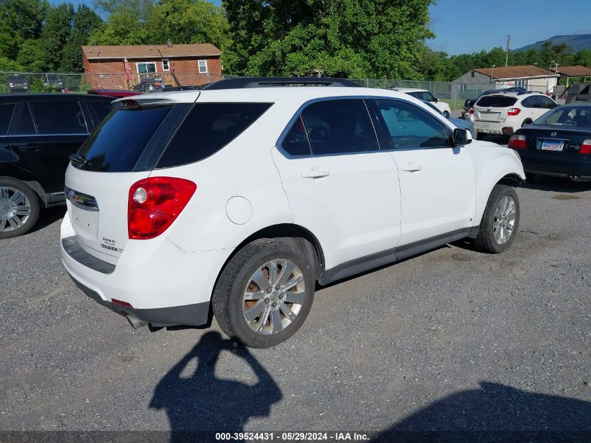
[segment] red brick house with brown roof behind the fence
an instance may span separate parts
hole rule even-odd
[[[222,52],[210,43],[191,45],[83,46],[87,83],[93,88],[131,89],[142,81],[203,85],[222,78]],[[127,62],[126,62],[127,60]],[[126,72],[127,70],[127,72]]]

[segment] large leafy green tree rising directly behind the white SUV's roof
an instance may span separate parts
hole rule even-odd
[[[232,30],[228,71],[420,78],[431,0],[222,0]]]

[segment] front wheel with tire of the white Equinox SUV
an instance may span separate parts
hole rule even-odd
[[[506,251],[515,241],[519,218],[520,205],[515,189],[507,185],[494,185],[480,221],[476,248],[492,254]]]

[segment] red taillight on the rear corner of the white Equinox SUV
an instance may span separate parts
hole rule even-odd
[[[153,239],[183,211],[197,185],[183,178],[150,177],[129,189],[127,232],[130,239]]]

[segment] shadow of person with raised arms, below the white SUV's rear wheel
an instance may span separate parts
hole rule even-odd
[[[215,365],[222,351],[245,360],[257,375],[250,386],[241,381],[215,377]],[[183,377],[197,359],[197,369]],[[248,349],[219,332],[206,332],[157,384],[150,408],[165,409],[171,426],[171,443],[197,442],[204,431],[240,433],[251,417],[269,416],[271,405],[283,394],[269,372]]]

